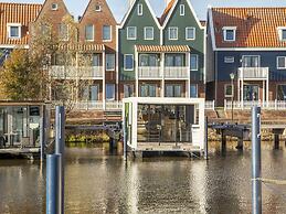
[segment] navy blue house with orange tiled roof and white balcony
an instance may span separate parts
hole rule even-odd
[[[206,99],[286,100],[286,9],[210,8]]]

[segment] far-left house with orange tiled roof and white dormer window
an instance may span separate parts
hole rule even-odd
[[[15,47],[29,49],[29,23],[41,8],[41,4],[0,2],[0,66]]]

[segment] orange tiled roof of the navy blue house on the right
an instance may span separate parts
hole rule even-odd
[[[216,47],[286,47],[278,26],[286,26],[286,8],[212,8]],[[235,42],[223,41],[223,26],[236,26]]]

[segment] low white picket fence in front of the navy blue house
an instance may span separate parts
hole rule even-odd
[[[233,106],[233,107],[232,107]],[[266,110],[286,110],[286,101],[284,100],[269,100],[269,101],[230,101],[224,100],[224,110],[231,110],[233,109],[251,109],[254,106],[259,106],[262,109]]]

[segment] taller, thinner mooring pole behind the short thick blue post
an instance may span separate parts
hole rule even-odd
[[[60,160],[60,204],[61,213],[64,214],[64,147],[65,147],[65,110],[63,106],[55,107],[55,153],[61,154]]]

